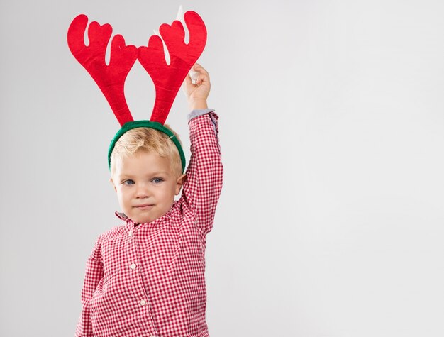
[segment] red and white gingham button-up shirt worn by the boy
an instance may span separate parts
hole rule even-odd
[[[99,236],[87,261],[75,336],[204,337],[205,239],[222,187],[218,116],[189,121],[192,156],[182,197],[151,223]]]

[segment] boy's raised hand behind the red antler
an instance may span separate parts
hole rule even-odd
[[[211,88],[209,73],[197,63],[192,67],[192,70],[198,73],[196,84],[192,83],[189,74],[184,81],[184,92],[187,95],[189,109],[206,109],[208,108],[206,99]]]

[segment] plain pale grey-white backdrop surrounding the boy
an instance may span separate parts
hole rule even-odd
[[[145,45],[179,4],[206,23],[221,117],[211,336],[444,336],[444,4],[394,0],[1,1],[0,335],[73,336],[87,257],[119,224],[119,126],[70,22]],[[149,118],[138,63],[126,96]],[[187,113],[179,92],[185,148]]]

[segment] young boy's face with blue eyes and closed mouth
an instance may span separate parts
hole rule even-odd
[[[116,160],[111,182],[126,216],[148,223],[170,211],[184,179],[174,175],[168,158],[139,151]]]

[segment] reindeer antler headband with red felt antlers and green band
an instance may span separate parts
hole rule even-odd
[[[121,129],[109,146],[109,165],[114,145],[123,133],[132,128],[145,127],[155,128],[170,136],[179,150],[182,170],[185,169],[182,146],[174,133],[163,124],[170,113],[180,86],[204,50],[206,27],[199,14],[194,11],[184,13],[184,21],[189,31],[189,43],[184,41],[185,32],[180,21],[173,21],[171,26],[166,23],[162,24],[159,29],[162,39],[158,35],[152,35],[148,41],[148,47],[136,48],[134,45],[125,45],[123,36],[115,35],[111,41],[109,65],[105,62],[105,52],[113,31],[111,25],[106,23],[101,26],[96,21],[91,22],[88,28],[89,45],[84,43],[87,16],[80,14],[74,18],[68,28],[67,40],[72,55],[96,81],[121,125]],[[167,64],[165,60],[163,43],[170,54],[170,64]],[[126,76],[136,59],[150,74],[155,85],[156,98],[150,120],[134,121],[123,93]]]

